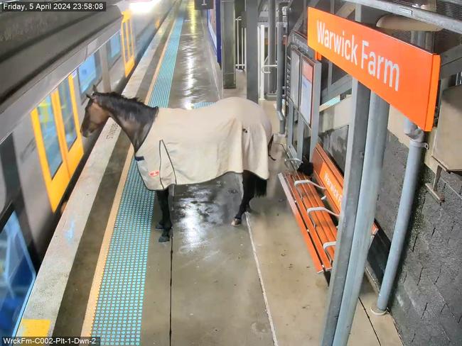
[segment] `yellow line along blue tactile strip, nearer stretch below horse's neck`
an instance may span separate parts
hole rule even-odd
[[[124,191],[125,182],[129,174],[129,168],[131,164],[131,158],[133,157],[133,147],[129,147],[127,158],[125,159],[124,168],[122,169],[122,175],[117,186],[117,191],[114,196],[114,203],[112,203],[111,212],[109,213],[109,219],[107,221],[106,230],[104,230],[104,238],[100,249],[100,255],[95,269],[95,275],[93,277],[92,288],[90,289],[90,296],[87,302],[87,311],[85,312],[85,318],[82,325],[82,336],[92,336],[93,320],[95,318],[96,306],[98,297],[100,296],[100,287],[102,282],[102,276],[104,274],[104,267],[106,265],[107,254],[109,252],[109,245],[112,239],[112,233],[114,233],[114,223],[117,217],[117,211],[119,211],[120,200],[122,199],[122,192]]]

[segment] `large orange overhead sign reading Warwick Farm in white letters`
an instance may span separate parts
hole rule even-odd
[[[422,130],[433,127],[439,55],[312,7],[308,8],[308,46]]]

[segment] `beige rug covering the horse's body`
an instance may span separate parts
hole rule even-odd
[[[203,108],[159,108],[135,154],[146,187],[198,184],[227,172],[268,179],[269,118],[262,107],[231,97]]]

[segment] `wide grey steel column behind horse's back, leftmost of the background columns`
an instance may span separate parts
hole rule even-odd
[[[223,88],[236,87],[235,0],[220,1]]]

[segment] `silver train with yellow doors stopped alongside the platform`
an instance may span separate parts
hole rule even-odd
[[[97,135],[92,87],[120,92],[177,0],[101,12],[0,12],[0,335],[14,335],[53,230]],[[72,236],[72,235],[70,235]]]

